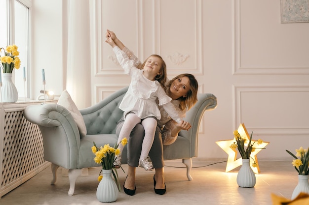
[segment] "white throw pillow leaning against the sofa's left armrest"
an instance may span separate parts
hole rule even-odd
[[[87,134],[86,125],[84,119],[82,118],[76,104],[73,102],[71,95],[67,90],[63,90],[62,94],[59,97],[57,102],[58,105],[62,105],[67,110],[71,112],[72,117],[77,123],[77,127],[79,130],[80,137],[83,137]]]

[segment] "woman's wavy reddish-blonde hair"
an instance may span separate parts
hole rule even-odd
[[[190,110],[193,107],[193,105],[197,102],[198,83],[197,83],[197,80],[195,79],[195,77],[192,74],[189,74],[189,73],[180,74],[180,75],[176,76],[175,78],[173,78],[172,80],[169,81],[168,87],[170,87],[176,79],[182,78],[182,77],[188,77],[189,78],[190,90],[187,92],[186,97],[181,96],[177,100],[180,101],[179,108],[181,110]]]

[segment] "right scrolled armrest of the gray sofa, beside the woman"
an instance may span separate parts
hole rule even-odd
[[[192,128],[188,131],[181,130],[179,136],[191,142],[191,155],[197,156],[197,137],[200,122],[206,111],[214,110],[217,107],[217,98],[211,93],[198,93],[196,104],[186,113],[185,121],[190,122]]]

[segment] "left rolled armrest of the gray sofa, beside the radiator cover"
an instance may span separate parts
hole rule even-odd
[[[28,106],[23,115],[39,126],[46,161],[66,169],[77,167],[80,135],[70,111],[51,103]]]

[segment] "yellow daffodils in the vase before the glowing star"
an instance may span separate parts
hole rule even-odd
[[[241,155],[241,158],[243,158],[243,159],[250,159],[251,152],[254,151],[254,149],[256,149],[256,147],[254,147],[254,144],[256,142],[258,143],[258,145],[261,145],[263,143],[263,140],[261,140],[261,139],[259,139],[258,141],[254,141],[252,143],[253,131],[250,135],[249,144],[247,143],[247,139],[242,138],[237,130],[235,130],[233,132],[233,134],[234,134],[236,142],[233,142],[233,144],[230,147],[232,149],[236,149],[236,147],[237,147],[237,149],[238,149],[238,151]],[[259,148],[259,147],[257,147],[257,148]],[[261,148],[261,149],[265,149],[265,148]],[[252,157],[251,157],[251,159],[254,161],[254,163],[252,164],[252,167],[257,167],[258,166],[257,162]]]

